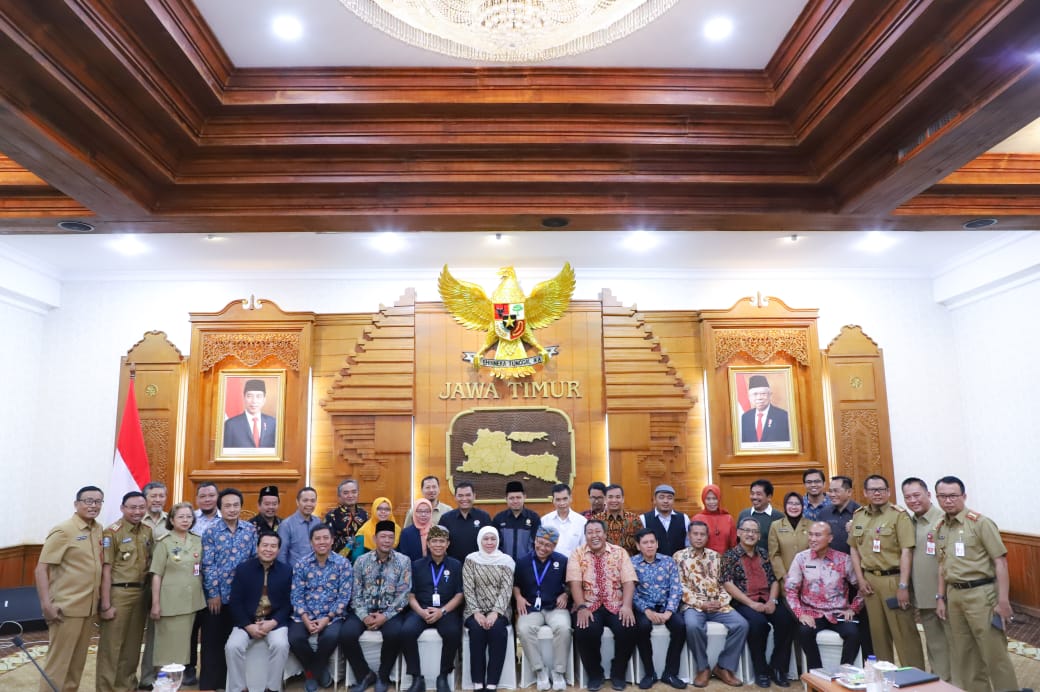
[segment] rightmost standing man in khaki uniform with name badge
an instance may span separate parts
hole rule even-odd
[[[1008,599],[1008,550],[993,520],[964,507],[964,483],[944,476],[935,496],[945,513],[936,526],[939,591],[936,614],[950,622],[954,685],[980,692],[1017,690],[1005,626],[1014,618]],[[999,617],[1000,629],[993,626]]]

